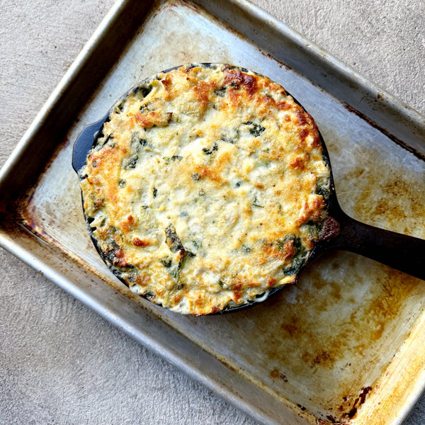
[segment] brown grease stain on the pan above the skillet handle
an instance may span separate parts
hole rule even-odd
[[[421,158],[402,149],[385,149],[373,140],[352,142],[350,157],[343,142],[333,142],[331,137],[326,144],[336,195],[348,215],[425,239],[425,162]]]

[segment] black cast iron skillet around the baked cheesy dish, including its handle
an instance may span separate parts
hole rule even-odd
[[[169,72],[176,68],[178,67],[167,69],[164,72]],[[121,99],[130,94],[132,90],[133,89],[130,89],[130,91],[122,96]],[[297,102],[295,98],[294,101]],[[297,103],[302,106],[299,102]],[[84,128],[79,137],[77,137],[72,153],[72,167],[77,174],[78,171],[86,164],[86,157],[89,154],[91,147],[94,145],[98,132],[103,128],[103,123],[108,120],[110,113],[111,111],[108,111],[101,120],[88,125]],[[330,170],[331,184],[329,189],[328,220],[324,226],[324,231],[322,232],[320,240],[315,244],[310,256],[297,272],[297,275],[307,268],[307,266],[317,259],[317,257],[324,254],[324,252],[331,249],[342,249],[344,251],[351,251],[368,257],[369,259],[379,261],[382,264],[396,268],[397,270],[403,271],[411,276],[425,280],[424,239],[366,225],[365,223],[354,220],[341,210],[336,198],[329,154],[320,132],[319,137],[322,142],[324,161],[327,162]],[[91,237],[91,239],[93,240],[98,253],[101,254],[103,258],[103,253],[98,246],[96,239],[93,237]],[[113,270],[113,272],[115,271]],[[117,273],[115,273],[115,275],[120,278]],[[125,283],[123,279],[120,278],[120,280]],[[125,283],[125,285],[127,285],[127,283]],[[278,291],[284,288],[284,286],[285,285],[271,289],[268,293],[268,297],[278,293]],[[263,297],[261,297],[261,300],[263,300]],[[257,303],[258,302],[253,300],[253,302],[243,305],[225,307],[225,309],[219,312],[219,314],[243,310],[244,308]]]

